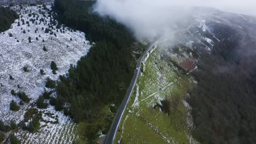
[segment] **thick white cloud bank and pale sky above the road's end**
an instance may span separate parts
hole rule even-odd
[[[256,15],[256,1],[232,0],[97,0],[94,11],[113,17],[129,27],[138,39],[153,39],[188,25],[194,7],[215,8],[237,14]]]

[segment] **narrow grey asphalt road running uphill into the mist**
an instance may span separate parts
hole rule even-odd
[[[129,86],[129,89],[127,89],[125,98],[124,98],[122,104],[119,106],[119,110],[117,112],[117,115],[115,115],[114,122],[112,123],[112,126],[111,126],[110,130],[108,131],[108,135],[106,136],[106,138],[105,138],[105,140],[103,142],[104,144],[112,144],[112,143],[114,143],[115,135],[117,135],[117,130],[118,130],[120,121],[121,121],[121,119],[122,119],[122,117],[124,115],[124,111],[126,109],[128,101],[129,101],[129,99],[131,97],[133,88],[136,85],[139,72],[141,71],[142,59],[149,52],[149,50],[156,44],[156,42],[157,42],[157,40],[154,41],[152,44],[150,44],[150,46],[148,46],[147,50],[142,53],[141,57],[139,57],[139,59],[137,61],[137,65],[136,65],[136,70],[135,70],[135,73],[133,74],[132,81],[131,81],[131,84]]]

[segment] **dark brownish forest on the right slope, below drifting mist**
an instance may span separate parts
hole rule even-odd
[[[201,143],[256,143],[256,44],[241,38],[219,41],[194,73],[198,83],[188,101]]]

